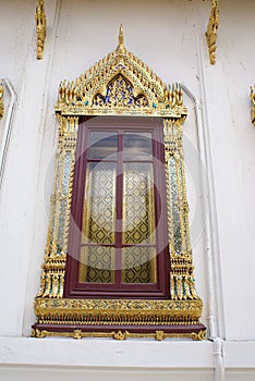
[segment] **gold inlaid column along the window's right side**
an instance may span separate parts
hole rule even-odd
[[[182,123],[182,119],[166,119],[163,125],[171,265],[170,284],[173,300],[198,299],[194,285],[190,244]]]

